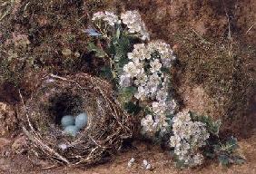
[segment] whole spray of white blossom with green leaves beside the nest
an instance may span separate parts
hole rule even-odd
[[[111,72],[106,73],[111,74],[108,78],[113,80],[115,87],[119,87],[117,94],[121,96],[120,101],[127,112],[136,114],[143,108],[141,131],[144,136],[153,140],[166,140],[168,136],[178,166],[201,165],[204,160],[202,151],[210,149],[215,153],[212,156],[218,157],[224,165],[241,162],[241,158],[234,159],[232,154],[233,147],[237,147],[236,140],[227,141],[222,149],[219,138],[212,137],[212,134],[218,134],[220,121],[212,121],[205,116],[200,119],[190,111],[177,113],[170,74],[175,56],[169,44],[150,42],[150,35],[138,11],[126,11],[120,15],[98,12],[92,20],[97,28],[89,28],[85,32],[97,36],[96,39],[99,36],[100,42],[107,39],[102,45],[107,46],[108,52],[104,52],[102,46],[95,49],[97,45],[94,43],[90,50],[99,56],[103,54],[113,58],[110,59]],[[132,46],[133,51],[129,53]],[[133,162],[134,159],[130,160],[128,167],[132,167]],[[151,164],[143,160],[143,168],[151,169]]]

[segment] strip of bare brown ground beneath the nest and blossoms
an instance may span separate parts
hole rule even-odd
[[[19,138],[20,140],[21,138]],[[12,158],[1,157],[0,158],[0,172],[3,174],[127,174],[127,173],[159,173],[159,174],[190,174],[190,173],[202,173],[202,174],[254,174],[256,173],[256,132],[250,139],[240,140],[241,152],[246,158],[246,163],[243,165],[231,166],[225,168],[220,166],[216,161],[207,161],[204,166],[196,169],[177,169],[174,167],[174,162],[171,156],[163,151],[159,146],[153,146],[152,144],[134,141],[133,149],[126,149],[124,152],[119,153],[113,158],[112,161],[93,166],[89,169],[74,169],[68,167],[57,167],[54,169],[48,169],[53,167],[51,163],[38,160],[34,157],[29,157],[22,154],[16,154]],[[0,149],[5,148],[8,144],[11,144],[12,140],[0,139]],[[17,142],[16,142],[17,143]],[[4,150],[2,151],[2,154]],[[4,153],[6,154],[6,151]],[[132,158],[135,159],[132,167],[129,168],[127,163]],[[143,169],[143,160],[147,160],[152,165],[152,169]]]

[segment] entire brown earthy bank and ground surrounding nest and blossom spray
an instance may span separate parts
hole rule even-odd
[[[1,173],[256,173],[255,0],[10,2],[0,1],[0,102],[10,105],[0,115],[0,131],[5,133],[0,137]],[[103,9],[139,10],[152,39],[173,46],[179,60],[173,68],[173,85],[181,106],[222,119],[222,132],[238,136],[245,164],[223,168],[208,161],[197,169],[180,170],[166,151],[138,140],[132,149],[90,169],[45,169],[51,167],[49,162],[27,153],[15,120],[18,90],[29,98],[38,76],[45,72],[98,75],[103,62],[86,53],[89,38],[83,30],[90,15]],[[5,63],[4,58],[12,61]],[[128,168],[131,158],[135,162]],[[143,160],[153,169],[142,169]]]

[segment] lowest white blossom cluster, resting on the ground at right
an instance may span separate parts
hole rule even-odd
[[[172,123],[173,136],[170,138],[170,145],[174,148],[174,154],[184,165],[201,165],[203,156],[199,148],[206,145],[206,140],[210,137],[205,123],[192,121],[189,111],[177,113]]]

